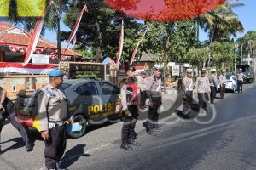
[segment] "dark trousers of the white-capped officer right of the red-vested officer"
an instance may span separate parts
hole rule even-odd
[[[149,107],[148,111],[148,130],[158,126],[159,108],[162,105],[162,98],[152,98],[153,107]]]

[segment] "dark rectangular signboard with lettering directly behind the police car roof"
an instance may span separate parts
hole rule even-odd
[[[105,80],[106,65],[102,63],[69,62],[68,73],[71,79],[87,78]]]

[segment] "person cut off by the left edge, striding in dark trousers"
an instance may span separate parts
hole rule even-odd
[[[15,127],[22,139],[25,143],[25,149],[26,151],[32,150],[32,144],[30,143],[30,140],[27,136],[26,129],[20,124],[18,121],[18,118],[16,116],[15,112],[15,104],[8,98],[7,91],[4,90],[2,87],[0,87],[0,142],[1,142],[1,132],[3,128],[3,124],[6,120],[6,118],[9,118],[9,122],[12,124],[13,127]],[[1,144],[1,143],[0,143]],[[2,153],[1,145],[0,145],[0,154]]]

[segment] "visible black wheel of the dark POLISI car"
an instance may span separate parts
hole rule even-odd
[[[71,122],[72,123],[79,122],[79,124],[82,126],[82,129],[79,132],[68,132],[68,136],[73,139],[82,137],[84,135],[84,133],[86,133],[86,130],[87,130],[86,118],[83,115],[76,115],[76,116],[72,117]]]

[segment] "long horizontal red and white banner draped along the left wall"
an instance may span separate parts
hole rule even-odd
[[[48,74],[55,69],[55,65],[33,65],[31,63],[23,66],[21,63],[0,63],[0,72],[20,74]]]

